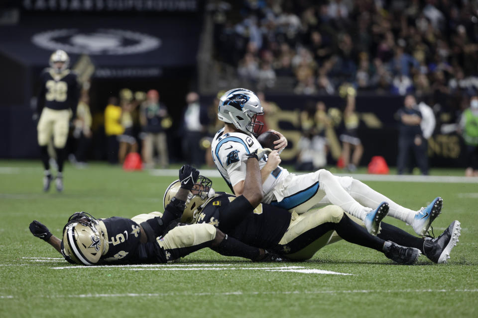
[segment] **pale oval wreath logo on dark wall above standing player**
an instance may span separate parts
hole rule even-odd
[[[34,34],[31,41],[45,50],[64,50],[74,54],[126,55],[157,49],[161,40],[155,36],[119,29],[56,29]]]

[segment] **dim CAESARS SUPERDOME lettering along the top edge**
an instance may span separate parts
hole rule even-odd
[[[197,0],[23,0],[28,11],[176,11],[195,12]]]

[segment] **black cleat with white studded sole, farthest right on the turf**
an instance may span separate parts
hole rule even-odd
[[[436,239],[425,239],[423,242],[423,254],[432,262],[442,264],[448,262],[450,251],[457,245],[462,228],[459,221],[452,224]]]

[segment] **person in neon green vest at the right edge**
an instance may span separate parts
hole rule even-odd
[[[470,100],[460,119],[460,131],[466,144],[466,176],[478,176],[478,95]]]

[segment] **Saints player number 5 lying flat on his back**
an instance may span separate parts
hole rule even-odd
[[[176,226],[198,176],[199,171],[189,165],[180,169],[180,186],[163,214],[153,212],[132,219],[95,219],[88,213],[77,212],[64,226],[62,239],[36,220],[30,223],[30,232],[52,245],[70,263],[81,265],[166,263],[204,247],[254,261],[281,261],[280,257],[261,248],[247,246],[224,235],[210,224]]]

